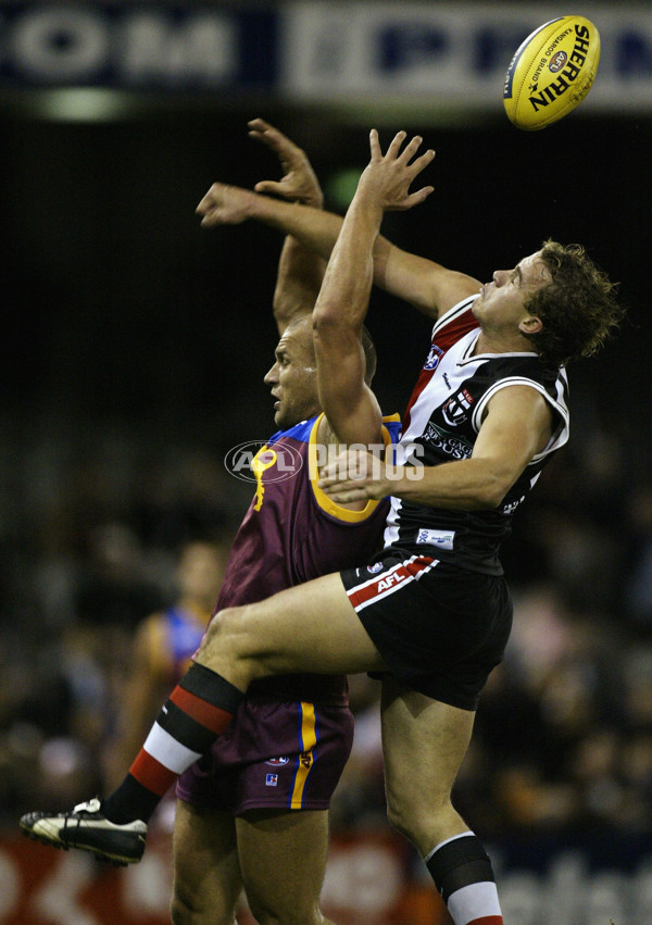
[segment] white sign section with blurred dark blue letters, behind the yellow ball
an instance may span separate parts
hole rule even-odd
[[[302,101],[499,110],[514,50],[550,4],[306,2],[285,8],[281,86]],[[591,5],[599,77],[584,111],[652,108],[652,10]]]

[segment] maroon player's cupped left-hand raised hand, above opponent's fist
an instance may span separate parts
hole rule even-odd
[[[280,161],[284,176],[280,180],[256,183],[256,192],[267,192],[322,209],[324,195],[305,152],[293,141],[262,118],[249,123],[249,135],[266,145]]]

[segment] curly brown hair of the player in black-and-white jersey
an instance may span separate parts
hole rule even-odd
[[[528,335],[547,366],[560,366],[591,357],[618,326],[624,309],[616,299],[616,283],[599,270],[581,245],[547,240],[541,258],[552,282],[530,296],[526,310],[542,322]]]

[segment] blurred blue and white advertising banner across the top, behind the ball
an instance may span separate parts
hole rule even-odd
[[[306,104],[500,111],[510,60],[567,4],[0,0],[0,89],[106,87]],[[582,111],[652,109],[652,9],[591,3]]]

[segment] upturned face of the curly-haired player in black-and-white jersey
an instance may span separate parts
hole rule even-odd
[[[497,270],[473,303],[473,313],[484,328],[518,327],[528,315],[525,301],[551,282],[541,251],[524,258],[513,270]]]

